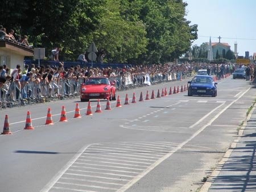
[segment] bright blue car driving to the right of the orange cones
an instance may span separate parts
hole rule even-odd
[[[197,75],[188,81],[188,96],[192,95],[207,95],[217,96],[217,82],[213,81],[212,76]]]

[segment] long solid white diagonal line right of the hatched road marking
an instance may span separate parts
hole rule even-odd
[[[175,152],[177,152],[178,150],[180,150],[184,145],[186,145],[189,141],[191,141],[192,139],[194,139],[197,135],[199,135],[199,133],[201,133],[202,131],[205,130],[206,127],[210,126],[210,124],[212,124],[212,122],[214,122],[214,120],[216,120],[218,118],[218,116],[220,116],[224,111],[226,111],[230,106],[233,105],[234,102],[238,101],[238,99],[240,99],[245,93],[247,93],[247,91],[250,90],[250,87],[243,92],[243,94],[240,95],[240,97],[238,97],[236,100],[234,100],[233,102],[231,102],[228,106],[226,106],[224,109],[222,109],[220,112],[218,112],[217,115],[215,115],[209,122],[208,124],[206,124],[205,126],[201,127],[200,130],[198,130],[197,132],[195,132],[191,137],[189,137],[187,140],[183,141],[183,143],[179,144],[176,148],[174,148],[170,153],[168,153],[167,155],[163,156],[162,158],[160,158],[158,161],[156,161],[154,164],[152,164],[149,168],[147,168],[143,173],[139,174],[139,176],[137,176],[136,178],[134,178],[133,180],[129,181],[126,185],[124,185],[123,187],[121,187],[121,189],[119,189],[117,192],[122,192],[122,191],[126,191],[127,189],[129,189],[131,186],[133,186],[136,182],[138,182],[139,180],[141,180],[142,177],[146,176],[147,173],[151,172],[152,169],[154,169],[156,166],[158,166],[160,163],[162,163],[164,160],[166,160],[167,158],[169,158],[170,156],[172,156]],[[218,107],[217,107],[218,108]],[[210,112],[212,113],[212,111]]]

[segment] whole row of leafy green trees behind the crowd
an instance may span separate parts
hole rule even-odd
[[[75,60],[94,41],[109,62],[155,63],[178,58],[197,39],[186,6],[181,0],[11,0],[1,3],[0,16],[7,30],[28,35],[46,55],[60,47],[60,59]]]

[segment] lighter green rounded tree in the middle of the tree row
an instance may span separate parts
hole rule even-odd
[[[94,39],[106,51],[108,61],[127,62],[146,52],[146,29],[138,16],[129,12],[121,15],[120,10],[125,12],[125,6],[117,1],[109,1],[105,9],[108,11],[102,16]]]

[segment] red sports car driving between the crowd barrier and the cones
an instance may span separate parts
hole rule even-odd
[[[81,101],[89,99],[107,99],[115,100],[115,82],[109,82],[107,77],[90,77],[81,84],[80,90]]]

